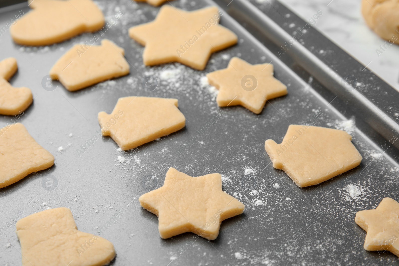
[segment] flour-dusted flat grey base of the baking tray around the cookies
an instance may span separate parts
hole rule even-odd
[[[16,45],[8,32],[0,36],[0,58],[13,56],[18,60],[12,85],[29,87],[35,98],[18,122],[55,156],[55,166],[0,190],[0,225],[6,228],[0,236],[2,264],[21,264],[15,217],[20,219],[48,207],[69,207],[79,230],[110,240],[117,251],[112,265],[370,266],[397,261],[389,252],[365,251],[365,232],[354,223],[357,211],[375,208],[384,197],[398,199],[397,160],[356,126],[360,115],[345,117],[337,99],[322,97],[321,84],[315,89],[313,83],[304,81],[292,65],[280,61],[227,12],[221,16],[221,25],[239,36],[238,45],[214,53],[204,71],[195,71],[179,63],[155,67],[142,64],[144,48],[128,37],[127,30],[152,21],[159,8],[128,0],[96,3],[106,20],[123,12],[99,37],[125,49],[131,65],[126,77],[73,93],[56,83],[56,89],[45,90],[42,80],[55,61],[75,43],[100,34],[85,33],[48,47]],[[218,3],[222,7],[225,4]],[[177,0],[170,4],[196,10],[215,3]],[[29,8],[2,13],[0,25],[20,10],[28,12]],[[215,91],[201,78],[227,67],[232,56],[252,64],[273,61],[275,77],[287,85],[288,95],[269,100],[259,115],[241,106],[219,108]],[[154,91],[141,85],[148,75],[157,78]],[[128,152],[119,152],[111,138],[101,137],[79,156],[77,149],[100,130],[97,113],[111,112],[119,97],[132,95],[177,98],[186,127]],[[200,134],[198,130],[219,110],[223,115],[217,123],[186,150],[183,145]],[[363,161],[356,169],[319,185],[299,188],[283,171],[272,167],[264,142],[269,138],[280,142],[289,124],[309,123],[320,111],[323,114],[316,125],[347,130]],[[11,119],[1,116],[0,126]],[[63,150],[58,152],[61,146]],[[395,150],[394,146],[389,148],[390,152]],[[168,167],[191,176],[221,173],[223,190],[236,195],[246,205],[245,212],[224,221],[213,241],[199,238],[192,243],[192,233],[161,239],[157,217],[140,207],[138,197],[162,186]],[[351,196],[349,187],[356,187],[357,195]],[[99,229],[119,211],[123,212],[120,219],[101,232]]]

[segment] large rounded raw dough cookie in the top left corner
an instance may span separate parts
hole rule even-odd
[[[104,25],[103,12],[92,0],[30,0],[33,9],[10,28],[22,45],[50,45]]]

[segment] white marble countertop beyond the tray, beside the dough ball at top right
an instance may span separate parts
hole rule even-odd
[[[318,10],[314,25],[320,32],[399,91],[399,45],[377,55],[385,40],[368,28],[361,15],[361,0],[280,0],[304,20]],[[382,50],[381,50],[382,51]]]

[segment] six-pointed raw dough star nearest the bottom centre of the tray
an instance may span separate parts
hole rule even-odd
[[[214,240],[223,220],[244,212],[244,204],[222,191],[219,173],[191,177],[170,167],[162,187],[145,193],[140,205],[158,216],[158,229],[166,239],[192,232]]]

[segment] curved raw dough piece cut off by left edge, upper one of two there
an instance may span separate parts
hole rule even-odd
[[[0,114],[20,114],[33,102],[30,89],[26,87],[15,88],[8,83],[17,69],[17,60],[13,57],[0,62]]]

